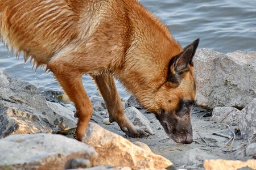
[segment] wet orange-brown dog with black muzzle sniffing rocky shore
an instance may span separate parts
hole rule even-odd
[[[93,111],[82,84],[82,75],[89,74],[109,121],[127,135],[149,134],[126,118],[113,77],[155,113],[169,137],[192,143],[192,58],[199,39],[183,49],[136,0],[0,0],[0,35],[25,61],[31,58],[55,75],[76,106],[77,140]]]

